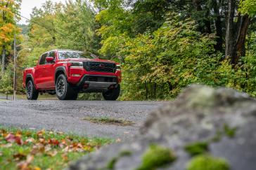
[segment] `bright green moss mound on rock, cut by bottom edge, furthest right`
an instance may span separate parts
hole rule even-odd
[[[186,170],[229,170],[229,164],[226,160],[209,155],[200,155],[194,157],[188,162]]]

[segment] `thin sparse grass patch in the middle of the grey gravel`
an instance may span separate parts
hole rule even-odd
[[[122,120],[122,119],[115,119],[115,118],[108,118],[108,117],[102,117],[102,118],[91,118],[86,117],[83,118],[83,120],[87,120],[89,122],[97,123],[97,124],[105,124],[105,125],[117,125],[117,126],[132,126],[134,125],[134,122],[129,120]]]

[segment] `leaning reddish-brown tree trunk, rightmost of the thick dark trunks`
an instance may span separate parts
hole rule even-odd
[[[243,15],[240,23],[238,23],[238,37],[236,39],[236,58],[234,63],[237,64],[240,57],[245,56],[245,38],[249,27],[249,16]]]

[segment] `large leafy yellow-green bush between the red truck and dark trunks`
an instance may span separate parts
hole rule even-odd
[[[217,84],[222,55],[213,54],[214,37],[202,36],[191,19],[179,20],[171,14],[153,35],[122,39],[122,99],[169,99],[191,83]]]

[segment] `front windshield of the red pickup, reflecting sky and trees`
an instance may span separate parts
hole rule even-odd
[[[97,57],[96,55],[91,54],[90,52],[58,50],[58,59],[69,59],[69,58],[95,59],[96,57]]]

